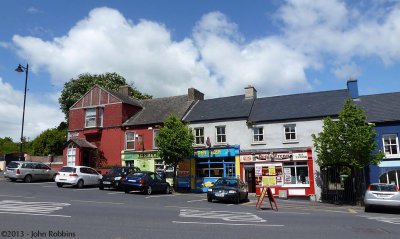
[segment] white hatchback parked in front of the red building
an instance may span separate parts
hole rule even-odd
[[[82,188],[83,186],[99,185],[101,178],[101,174],[94,168],[86,166],[65,166],[60,169],[55,181],[58,187],[72,185]]]

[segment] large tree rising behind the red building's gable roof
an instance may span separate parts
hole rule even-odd
[[[61,91],[61,96],[58,99],[60,108],[65,114],[65,119],[68,120],[69,108],[96,84],[113,91],[118,91],[120,86],[128,85],[125,78],[117,73],[100,75],[85,73],[79,75],[78,79],[71,79],[64,84],[64,89]],[[150,95],[138,91],[133,87],[133,84],[130,85],[129,94],[137,99],[151,98]]]

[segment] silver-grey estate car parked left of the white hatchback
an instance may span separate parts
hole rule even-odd
[[[15,182],[23,180],[26,183],[37,180],[54,180],[57,171],[44,163],[30,161],[11,161],[4,171],[4,177]]]

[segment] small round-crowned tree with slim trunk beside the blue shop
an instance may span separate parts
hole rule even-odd
[[[179,162],[193,156],[194,136],[188,124],[178,117],[167,117],[156,137],[160,158],[174,168],[174,188],[176,189],[176,168]]]

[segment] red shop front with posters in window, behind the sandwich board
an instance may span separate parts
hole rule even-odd
[[[241,152],[240,167],[249,192],[256,195],[260,195],[260,189],[266,186],[280,197],[315,195],[311,148]]]

